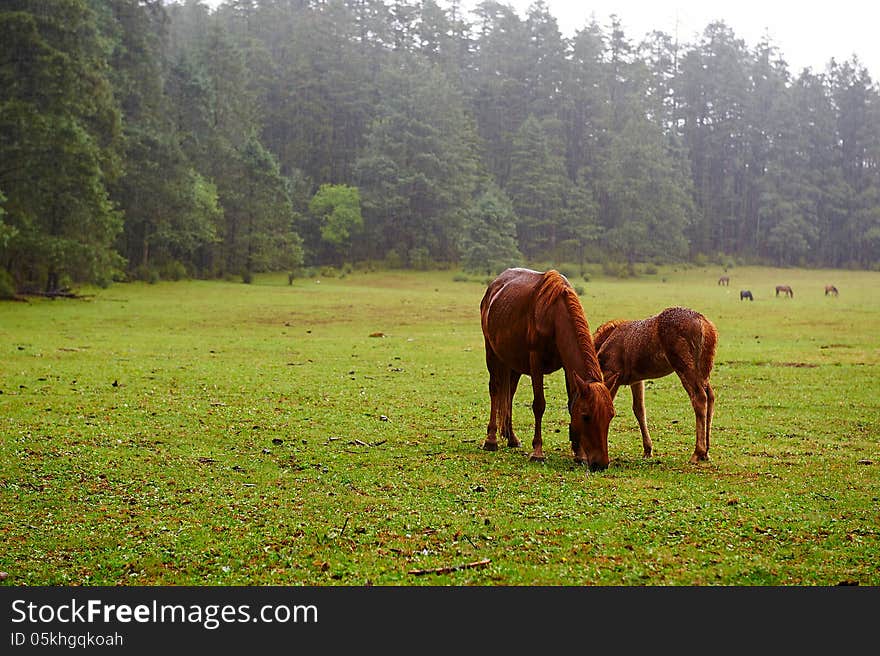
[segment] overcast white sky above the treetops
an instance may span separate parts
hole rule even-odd
[[[203,0],[217,6],[222,0]],[[474,7],[480,0],[463,0]],[[503,1],[503,0],[502,0]],[[533,0],[507,0],[525,17]],[[447,0],[439,0],[448,6]],[[617,14],[633,43],[652,30],[662,30],[694,43],[710,22],[723,20],[734,34],[754,47],[767,34],[797,75],[810,67],[822,72],[828,61],[858,55],[873,80],[880,79],[880,2],[878,0],[545,0],[565,36],[573,35],[595,14],[607,28]]]

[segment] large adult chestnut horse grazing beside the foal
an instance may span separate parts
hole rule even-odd
[[[608,425],[614,401],[602,381],[593,336],[577,293],[558,271],[507,269],[489,283],[480,302],[486,342],[491,410],[483,448],[498,449],[497,433],[507,445],[520,445],[513,431],[513,396],[520,376],[532,379],[535,435],[531,460],[544,460],[541,418],[544,376],[565,370],[575,460],[590,469],[608,467]]]

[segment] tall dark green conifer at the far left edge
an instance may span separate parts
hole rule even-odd
[[[0,262],[22,288],[106,284],[122,262],[107,191],[121,115],[97,19],[84,0],[8,0],[0,10]]]

